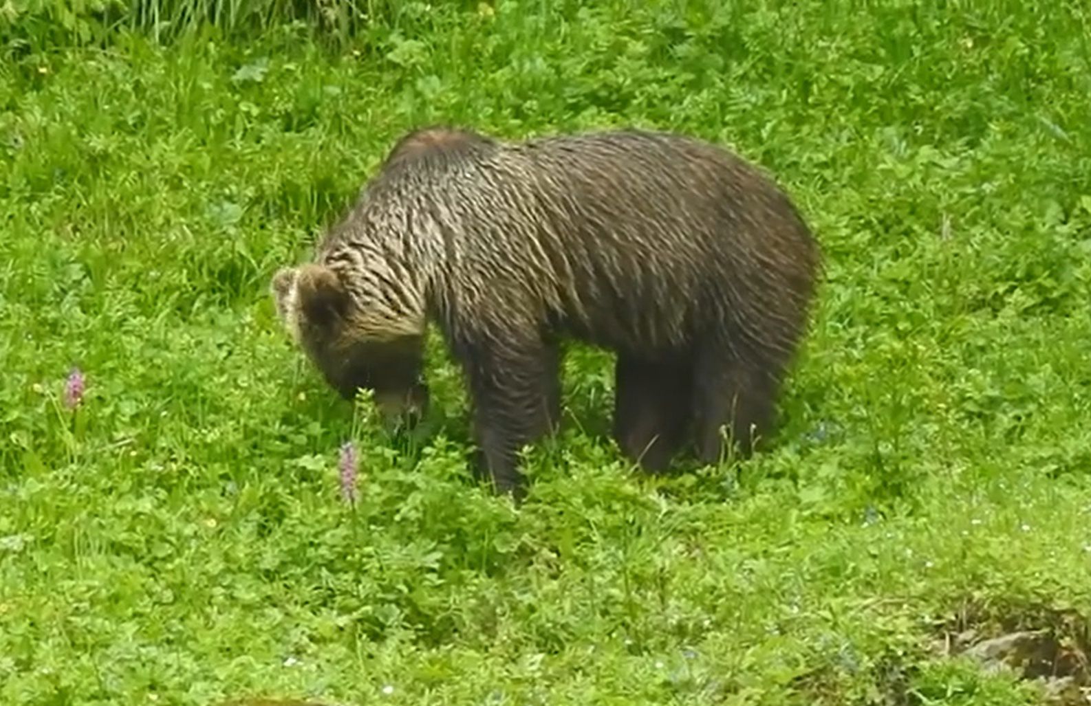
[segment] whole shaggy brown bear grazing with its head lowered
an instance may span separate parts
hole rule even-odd
[[[461,363],[485,468],[560,416],[559,340],[618,353],[614,437],[650,470],[691,437],[766,435],[806,327],[819,251],[796,209],[739,157],[679,135],[503,143],[453,127],[401,138],[277,307],[343,394],[427,398],[425,324]]]

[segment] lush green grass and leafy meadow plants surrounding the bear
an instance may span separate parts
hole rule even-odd
[[[405,3],[339,47],[9,27],[0,703],[1036,703],[927,646],[966,610],[1091,619],[1091,26],[1040,4]],[[772,171],[827,259],[775,449],[632,472],[577,350],[516,509],[469,475],[440,345],[423,433],[338,401],[268,279],[441,120]]]

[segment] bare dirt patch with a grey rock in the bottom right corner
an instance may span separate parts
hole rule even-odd
[[[1051,706],[1091,704],[1091,621],[1075,610],[967,600],[936,632],[932,652],[942,658],[1038,681]]]

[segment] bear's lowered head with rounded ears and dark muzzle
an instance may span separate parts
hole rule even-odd
[[[288,332],[341,397],[372,391],[387,422],[412,421],[427,412],[422,325],[392,317],[377,302],[361,301],[325,265],[284,268],[273,277],[272,290]]]

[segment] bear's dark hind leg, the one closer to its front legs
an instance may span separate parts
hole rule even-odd
[[[614,440],[646,471],[663,471],[690,427],[691,366],[619,354],[614,381]]]

